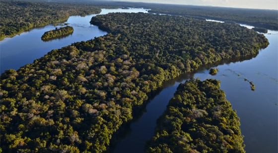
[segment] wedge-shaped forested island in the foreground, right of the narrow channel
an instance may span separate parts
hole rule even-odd
[[[219,88],[215,79],[181,83],[146,153],[245,153],[239,118]]]

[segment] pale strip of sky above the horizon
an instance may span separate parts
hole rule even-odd
[[[240,8],[278,9],[278,0],[121,0],[155,3],[210,5]]]

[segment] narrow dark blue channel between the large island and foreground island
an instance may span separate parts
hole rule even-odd
[[[165,81],[154,97],[151,96],[143,114],[125,127],[126,132],[118,138],[111,153],[144,153],[144,146],[154,135],[157,118],[166,110],[169,100],[173,97],[178,85],[194,74],[186,74],[169,81]]]

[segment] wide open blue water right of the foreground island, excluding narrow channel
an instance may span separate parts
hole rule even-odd
[[[257,57],[218,66],[216,76],[209,70],[195,74],[221,81],[220,88],[240,117],[246,153],[278,153],[278,32],[269,33],[265,36],[270,45]],[[244,78],[253,81],[255,91]]]

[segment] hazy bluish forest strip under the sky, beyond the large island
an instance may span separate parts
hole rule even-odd
[[[68,0],[59,0],[67,1]],[[70,0],[77,2],[77,0]],[[78,2],[92,3],[88,0],[78,0]],[[236,22],[249,24],[254,27],[278,30],[278,10],[267,9],[249,9],[249,8],[229,8],[215,6],[196,6],[196,5],[178,5],[178,4],[157,4],[143,2],[109,1],[95,0],[94,4],[105,4],[106,6],[122,7],[143,7],[151,9],[150,13],[162,13],[172,15],[183,15],[195,19],[205,20],[214,19],[225,22]],[[100,7],[99,7],[100,8]]]

